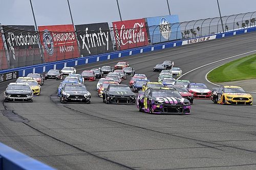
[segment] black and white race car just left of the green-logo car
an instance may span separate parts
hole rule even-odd
[[[83,84],[66,84],[60,91],[59,101],[91,103],[91,93]]]

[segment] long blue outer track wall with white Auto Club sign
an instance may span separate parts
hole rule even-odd
[[[9,70],[2,70],[0,71],[0,82],[15,79],[17,77],[24,77],[28,75],[29,73],[42,73],[46,72],[50,69],[61,69],[65,66],[78,66],[78,65],[86,65],[89,63],[99,62],[99,61],[105,61],[115,58],[121,58],[121,57],[127,57],[132,55],[137,55],[141,53],[147,53],[152,51],[158,51],[165,48],[171,48],[191,43],[199,43],[203,41],[218,39],[218,38],[224,38],[228,36],[234,36],[244,33],[249,33],[256,31],[256,27],[251,27],[248,29],[242,29],[242,30],[236,30],[236,31],[229,31],[225,33],[218,33],[213,34],[209,36],[202,36],[197,38],[191,38],[187,40],[179,40],[179,41],[173,41],[173,42],[166,42],[161,44],[155,44],[155,45],[149,45],[149,46],[143,46],[143,47],[137,47],[132,48],[129,50],[123,50],[113,53],[107,53],[107,54],[101,54],[101,55],[94,55],[90,57],[82,57],[82,58],[76,58],[76,59],[69,59],[69,60],[62,60],[57,62],[50,62],[45,64],[38,64],[38,65],[32,65],[27,67],[20,67],[20,68],[13,68]]]

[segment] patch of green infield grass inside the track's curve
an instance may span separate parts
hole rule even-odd
[[[207,75],[211,82],[221,83],[256,78],[256,54],[226,63]]]

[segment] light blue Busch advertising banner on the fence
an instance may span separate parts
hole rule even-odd
[[[178,25],[172,25],[173,23],[179,22],[178,15],[148,17],[146,21],[150,39],[153,44],[182,39]]]

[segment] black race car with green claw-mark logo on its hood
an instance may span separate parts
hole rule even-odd
[[[135,104],[136,95],[127,85],[110,84],[103,91],[103,102],[106,104]]]

